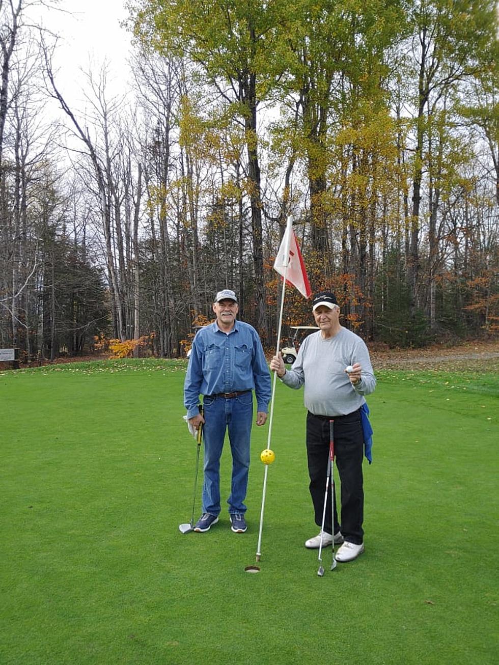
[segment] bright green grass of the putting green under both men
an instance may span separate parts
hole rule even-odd
[[[303,394],[253,428],[245,535],[190,520],[196,445],[184,362],[0,373],[0,662],[473,665],[496,661],[498,383],[378,372],[365,544],[317,577]],[[228,448],[228,446],[226,446]],[[230,453],[222,460],[228,495]],[[200,487],[200,484],[198,487]],[[199,512],[200,504],[198,500]]]

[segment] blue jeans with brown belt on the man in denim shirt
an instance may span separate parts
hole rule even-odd
[[[246,513],[248,489],[249,446],[253,420],[253,393],[251,391],[226,399],[205,396],[204,419],[204,483],[203,512],[218,515],[220,507],[220,457],[224,448],[226,430],[229,431],[232,452],[232,483],[227,499],[230,513]]]

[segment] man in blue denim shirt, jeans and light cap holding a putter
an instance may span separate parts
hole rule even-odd
[[[192,344],[184,405],[187,417],[198,429],[204,423],[203,513],[194,531],[204,533],[220,515],[220,456],[226,430],[232,452],[232,485],[227,500],[234,533],[246,531],[246,490],[249,447],[253,419],[253,390],[257,402],[256,424],[267,420],[271,397],[269,368],[258,333],[248,323],[236,320],[236,293],[219,291],[213,311],[216,321],[202,328]],[[203,395],[204,416],[198,408]]]

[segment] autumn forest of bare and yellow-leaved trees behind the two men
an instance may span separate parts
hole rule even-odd
[[[37,4],[0,0],[0,346],[182,356],[229,287],[275,348],[289,214],[367,340],[496,335],[495,2],[131,0],[133,94],[83,108]]]

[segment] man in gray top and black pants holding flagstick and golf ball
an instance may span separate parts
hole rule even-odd
[[[341,526],[336,502],[326,502],[322,547],[343,543],[336,561],[353,561],[364,551],[363,409],[365,395],[376,387],[369,351],[363,340],[339,323],[335,295],[321,291],[313,297],[312,311],[319,331],[301,344],[297,358],[286,370],[280,355],[270,368],[289,388],[304,386],[307,408],[307,462],[315,523],[321,527],[329,457],[329,421],[334,420],[335,461],[341,482]],[[350,372],[347,372],[347,366]],[[331,513],[334,513],[333,515]],[[305,542],[318,548],[319,534]]]

